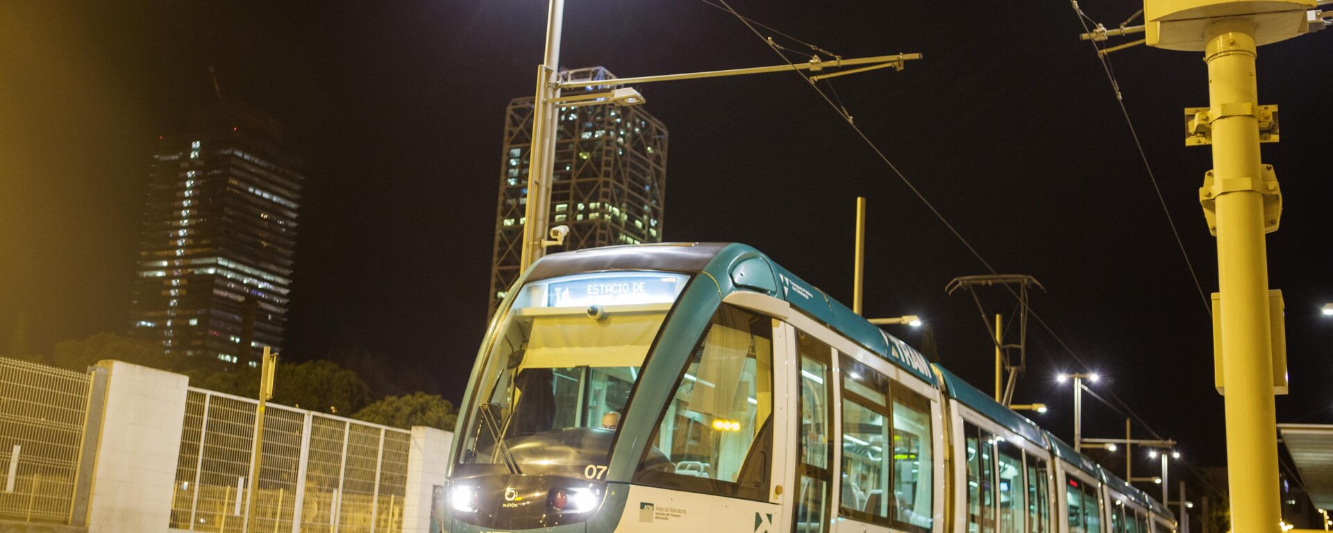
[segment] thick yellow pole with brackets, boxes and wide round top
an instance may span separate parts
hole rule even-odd
[[[1144,0],[1148,45],[1204,52],[1208,63],[1209,107],[1186,109],[1185,137],[1213,148],[1198,196],[1217,236],[1216,384],[1225,398],[1232,529],[1244,533],[1276,532],[1281,521],[1273,396],[1285,392],[1285,376],[1274,376],[1285,353],[1273,342],[1282,322],[1269,309],[1264,237],[1277,229],[1281,192],[1260,160],[1260,141],[1277,140],[1277,115],[1258,104],[1254,59],[1258,45],[1305,33],[1317,4]],[[1164,468],[1164,485],[1165,476]]]

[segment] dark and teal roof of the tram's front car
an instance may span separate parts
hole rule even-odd
[[[596,270],[655,269],[706,272],[717,281],[722,296],[736,290],[749,290],[782,298],[898,368],[932,385],[936,382],[925,356],[920,352],[745,244],[661,243],[561,252],[535,263],[527,278],[544,280]]]

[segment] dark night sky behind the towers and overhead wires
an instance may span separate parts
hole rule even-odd
[[[1085,4],[1108,25],[1141,7]],[[1036,312],[1113,380],[1094,389],[1180,440],[1196,465],[1225,461],[1209,314],[1066,1],[733,7],[845,57],[924,53],[904,72],[833,88],[997,270],[1046,286]],[[381,393],[457,400],[485,321],[504,108],[532,92],[545,16],[540,0],[0,4],[0,340],[20,312],[37,350],[127,328],[152,148],[215,99],[212,65],[225,96],[285,121],[285,148],[307,164],[285,354],[364,348],[401,377],[400,390]],[[1282,141],[1264,148],[1285,200],[1268,241],[1293,390],[1278,400],[1280,422],[1333,422],[1333,320],[1320,316],[1333,301],[1330,40],[1260,49],[1260,103],[1282,109]],[[1208,105],[1201,55],[1138,47],[1112,60],[1213,292],[1216,241],[1197,201],[1209,149],[1181,139],[1182,108]],[[567,5],[564,67],[628,77],[777,63],[700,0]],[[976,306],[944,292],[984,266],[804,81],[780,73],[639,89],[670,131],[666,240],[754,245],[850,302],[853,205],[866,196],[866,314],[921,314],[944,364],[989,390],[993,354]],[[1013,306],[1002,292],[986,302]],[[920,330],[890,332],[920,346]],[[1070,438],[1058,370],[1082,368],[1034,324],[1016,400],[1052,405],[1034,417]],[[1122,428],[1121,414],[1085,401],[1085,436]]]

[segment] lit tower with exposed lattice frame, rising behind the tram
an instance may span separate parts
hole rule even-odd
[[[608,80],[589,91],[619,87],[616,76],[601,67],[561,71],[560,76]],[[520,274],[532,104],[532,97],[513,99],[505,109],[488,314],[495,314]],[[641,105],[561,108],[555,167],[549,223],[569,227],[564,249],[661,243],[666,127]]]

